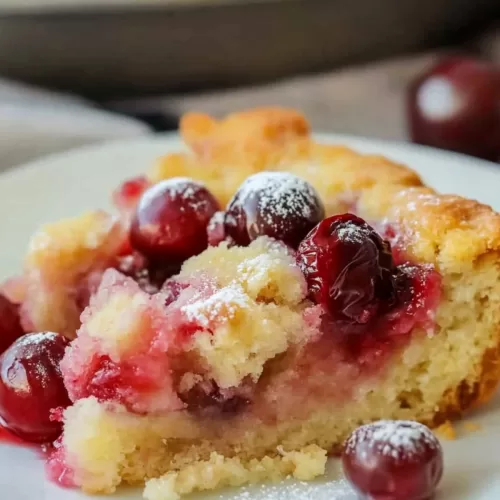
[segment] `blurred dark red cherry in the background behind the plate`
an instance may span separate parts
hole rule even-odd
[[[407,106],[414,142],[500,158],[500,72],[493,65],[446,58],[411,85]]]

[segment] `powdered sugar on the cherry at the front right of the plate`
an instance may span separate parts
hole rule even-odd
[[[441,447],[428,427],[409,420],[380,420],[359,427],[347,439],[345,452],[357,453],[360,446],[366,451],[376,450],[394,460],[411,459],[426,450]]]

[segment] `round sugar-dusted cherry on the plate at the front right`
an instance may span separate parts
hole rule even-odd
[[[425,425],[381,420],[350,435],[342,466],[361,498],[429,500],[443,474],[443,452]]]

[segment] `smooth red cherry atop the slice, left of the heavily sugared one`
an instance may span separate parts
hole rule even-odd
[[[207,226],[218,208],[199,182],[183,177],[162,181],[139,200],[130,242],[151,261],[182,262],[207,248]]]

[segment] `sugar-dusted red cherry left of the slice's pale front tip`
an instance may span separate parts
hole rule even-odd
[[[67,345],[57,333],[30,333],[0,356],[0,417],[27,441],[45,443],[61,433],[62,424],[50,417],[71,404],[59,368]]]

